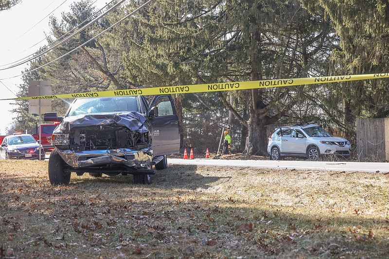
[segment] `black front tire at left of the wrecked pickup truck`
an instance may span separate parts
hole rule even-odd
[[[64,171],[65,162],[54,149],[49,158],[49,180],[52,185],[68,185],[70,182],[70,172]]]

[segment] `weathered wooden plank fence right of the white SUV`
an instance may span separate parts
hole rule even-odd
[[[389,118],[357,119],[357,158],[389,161]]]

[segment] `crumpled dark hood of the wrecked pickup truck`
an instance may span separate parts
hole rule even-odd
[[[96,113],[81,114],[77,116],[65,117],[55,128],[53,134],[69,133],[74,128],[88,127],[126,127],[139,133],[152,132],[151,124],[146,117],[138,112],[120,113]]]

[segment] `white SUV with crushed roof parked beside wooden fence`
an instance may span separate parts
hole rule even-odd
[[[310,160],[318,160],[322,155],[349,158],[350,152],[350,141],[333,137],[316,124],[276,128],[267,145],[271,160],[280,160],[283,156],[306,156]]]

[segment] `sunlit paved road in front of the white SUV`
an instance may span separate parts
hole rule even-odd
[[[282,168],[303,170],[327,170],[347,172],[388,173],[389,163],[348,161],[304,161],[304,160],[229,160],[229,159],[179,159],[168,158],[169,164],[239,166],[260,168]]]

